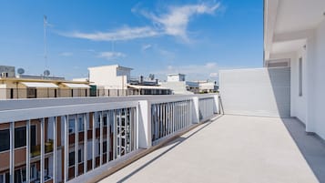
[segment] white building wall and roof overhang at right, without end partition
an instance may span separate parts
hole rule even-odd
[[[325,139],[325,1],[266,0],[265,8],[264,64],[289,61],[290,115]]]

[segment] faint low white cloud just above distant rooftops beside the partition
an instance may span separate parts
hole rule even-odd
[[[209,62],[204,65],[167,66],[165,69],[154,73],[161,77],[166,77],[170,73],[182,73],[187,75],[187,80],[217,80],[218,70],[217,63]]]

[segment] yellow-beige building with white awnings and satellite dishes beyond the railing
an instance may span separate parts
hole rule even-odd
[[[6,70],[0,76],[0,99],[89,96],[87,81],[68,81],[55,76],[15,76],[14,66],[0,68]]]

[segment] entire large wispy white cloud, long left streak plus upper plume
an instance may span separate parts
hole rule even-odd
[[[161,14],[148,13],[138,9],[136,5],[131,9],[152,21],[154,26],[122,27],[113,31],[98,31],[86,33],[82,31],[58,33],[61,36],[88,39],[92,41],[120,41],[153,36],[176,36],[188,41],[188,23],[194,15],[213,15],[220,7],[220,3],[195,5],[168,6]]]

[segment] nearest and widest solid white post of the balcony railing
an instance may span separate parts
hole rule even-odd
[[[147,100],[140,100],[138,102],[137,127],[138,147],[151,147],[151,103]]]

